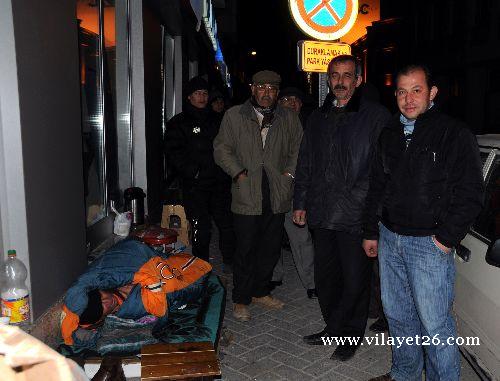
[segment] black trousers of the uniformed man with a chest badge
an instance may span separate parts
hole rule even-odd
[[[231,213],[231,191],[229,188],[183,188],[186,217],[191,224],[193,255],[209,260],[212,218],[219,229],[219,249],[224,263],[233,262],[236,238]]]

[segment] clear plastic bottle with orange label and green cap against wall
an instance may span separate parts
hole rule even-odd
[[[15,250],[7,252],[8,258],[3,264],[2,274],[2,315],[10,317],[10,324],[22,325],[30,322],[29,291],[26,287],[28,271],[16,257]]]

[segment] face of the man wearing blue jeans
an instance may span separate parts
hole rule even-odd
[[[399,111],[407,119],[417,119],[429,108],[436,97],[437,87],[429,89],[423,70],[414,70],[400,75],[396,80],[396,100]]]

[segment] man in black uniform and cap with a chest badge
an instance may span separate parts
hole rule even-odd
[[[184,111],[167,123],[167,161],[182,179],[182,197],[191,224],[193,255],[209,260],[211,218],[219,229],[225,265],[231,265],[235,238],[231,214],[231,179],[215,164],[213,141],[220,119],[207,107],[208,83],[192,78],[185,88]]]

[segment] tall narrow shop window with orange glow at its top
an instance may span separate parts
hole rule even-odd
[[[130,183],[128,0],[76,0],[76,17],[90,227],[109,216],[109,201],[119,203],[120,189]]]

